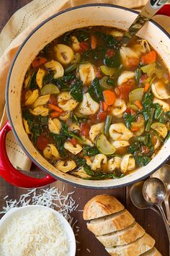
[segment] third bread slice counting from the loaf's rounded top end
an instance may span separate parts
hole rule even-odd
[[[116,231],[103,236],[97,236],[99,242],[104,247],[113,247],[118,245],[130,244],[145,234],[145,230],[136,222],[126,229]]]

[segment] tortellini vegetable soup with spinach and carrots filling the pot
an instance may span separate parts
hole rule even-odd
[[[117,179],[146,166],[169,138],[170,76],[158,53],[123,31],[65,33],[32,61],[22,88],[24,129],[55,168]]]

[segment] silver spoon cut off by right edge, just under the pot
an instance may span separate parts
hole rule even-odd
[[[169,195],[170,195],[170,166],[168,164],[164,164],[161,168],[158,169],[151,177],[156,177],[161,179],[164,182],[166,187],[166,197],[164,200],[165,208],[166,208],[166,217],[170,223],[170,208],[169,208]]]

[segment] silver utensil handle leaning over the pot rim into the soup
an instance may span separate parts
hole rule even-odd
[[[142,11],[140,14],[138,14],[138,17],[134,20],[133,24],[130,25],[128,28],[127,32],[122,36],[121,40],[121,46],[127,46],[130,40],[133,38],[133,36],[138,33],[140,28],[142,28],[148,20],[153,17],[156,12],[158,12],[161,7],[166,4],[168,0],[161,0],[161,1],[154,1],[154,0],[149,0],[145,7],[143,7]]]

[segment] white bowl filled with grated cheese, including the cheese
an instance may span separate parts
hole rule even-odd
[[[1,256],[75,256],[76,240],[61,213],[42,205],[9,210],[0,220]]]

